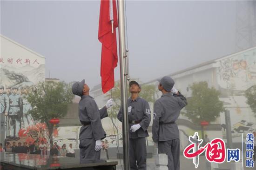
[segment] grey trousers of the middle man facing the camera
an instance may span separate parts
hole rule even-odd
[[[130,169],[147,170],[146,137],[129,140]]]

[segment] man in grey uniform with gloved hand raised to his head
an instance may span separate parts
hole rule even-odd
[[[162,96],[154,104],[153,141],[158,145],[158,153],[168,155],[168,170],[180,170],[180,136],[175,121],[187,99],[174,88],[172,78],[165,76],[158,81]]]

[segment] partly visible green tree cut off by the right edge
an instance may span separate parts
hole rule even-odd
[[[245,91],[245,97],[247,98],[246,103],[250,106],[256,118],[256,85]]]

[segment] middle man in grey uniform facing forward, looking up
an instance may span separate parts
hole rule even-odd
[[[139,97],[141,86],[136,81],[129,83],[131,98],[127,101],[129,131],[129,153],[130,169],[147,169],[146,137],[148,137],[148,126],[151,120],[148,102]],[[117,114],[118,120],[122,122],[122,107]]]

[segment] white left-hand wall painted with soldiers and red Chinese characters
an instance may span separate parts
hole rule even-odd
[[[1,129],[2,124],[5,126],[4,139],[20,140],[26,136],[29,142],[29,137],[35,135],[43,138],[45,124],[34,124],[27,114],[31,105],[26,96],[33,85],[45,80],[45,58],[11,39],[0,38],[0,114]]]

